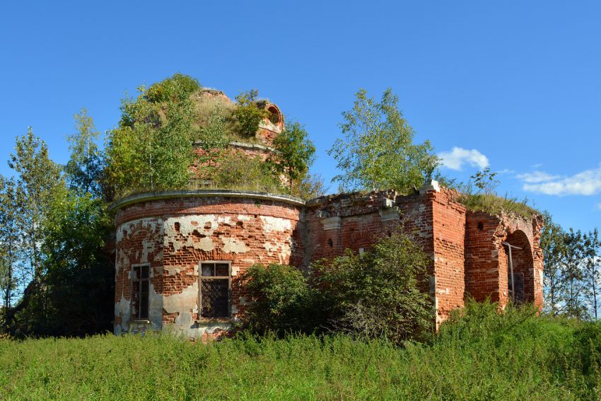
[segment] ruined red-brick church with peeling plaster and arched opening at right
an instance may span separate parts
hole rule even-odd
[[[210,95],[225,95],[213,91]],[[284,129],[269,103],[262,145],[232,142],[267,158]],[[235,283],[272,262],[305,269],[313,260],[362,252],[402,225],[431,256],[429,293],[437,325],[467,295],[505,306],[542,307],[542,219],[468,211],[456,192],[426,182],[415,194],[337,194],[310,201],[281,194],[180,190],[136,194],[115,211],[115,334],[168,330],[206,339],[227,332],[249,299]]]

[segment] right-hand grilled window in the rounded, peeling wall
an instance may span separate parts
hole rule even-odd
[[[230,262],[201,262],[200,318],[230,317]]]

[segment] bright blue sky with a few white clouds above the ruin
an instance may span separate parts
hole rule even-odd
[[[124,93],[180,71],[231,97],[258,88],[305,124],[329,180],[340,113],[358,88],[390,86],[443,173],[489,165],[501,193],[566,227],[600,226],[601,3],[295,3],[5,2],[0,173],[28,126],[64,163],[82,106],[104,132]]]

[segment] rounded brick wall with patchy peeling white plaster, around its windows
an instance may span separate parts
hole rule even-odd
[[[301,234],[295,233],[300,216],[301,207],[296,205],[245,197],[156,199],[122,208],[117,214],[118,233],[129,227],[148,227],[138,230],[139,234],[117,238],[119,255],[127,257],[117,257],[116,280],[122,283],[118,287],[123,298],[117,300],[116,296],[115,300],[115,332],[131,330],[129,287],[124,291],[129,285],[126,270],[131,269],[132,260],[152,260],[151,302],[156,302],[151,303],[149,327],[201,339],[223,334],[247,301],[238,285],[247,267],[302,260],[304,247],[297,243]],[[153,233],[152,247],[148,245],[149,231]],[[137,250],[141,250],[140,257],[132,257]],[[232,319],[199,319],[198,266],[202,260],[231,262]]]

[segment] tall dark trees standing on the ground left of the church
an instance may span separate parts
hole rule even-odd
[[[11,155],[16,179],[0,180],[2,331],[11,335],[86,335],[111,326],[115,276],[104,244],[112,221],[95,176],[93,120],[85,110],[75,118],[69,185],[31,130]]]

